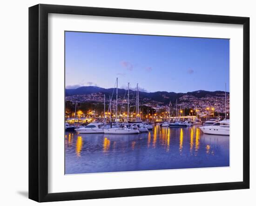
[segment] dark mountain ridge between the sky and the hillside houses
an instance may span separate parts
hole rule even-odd
[[[73,96],[73,95],[87,95],[87,94],[92,94],[92,93],[102,93],[105,94],[106,97],[109,95],[112,95],[114,92],[115,95],[115,88],[101,88],[98,86],[81,86],[76,89],[66,89],[66,96]],[[118,89],[118,94],[120,96],[124,96],[126,93],[127,95],[127,90],[125,89]],[[202,98],[206,96],[220,96],[224,95],[225,92],[223,91],[215,91],[215,92],[210,92],[210,91],[204,91],[204,90],[198,90],[194,92],[188,92],[188,93],[175,93],[175,92],[153,92],[153,93],[147,93],[147,92],[140,92],[140,97],[145,100],[154,100],[157,102],[162,102],[164,104],[168,104],[169,101],[174,102],[176,101],[177,98],[180,98],[184,95],[190,95],[190,96],[195,96],[197,98]],[[130,97],[132,98],[133,95],[135,94],[135,91],[130,90]]]

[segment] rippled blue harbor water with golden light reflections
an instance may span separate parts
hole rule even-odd
[[[139,134],[65,133],[65,174],[229,166],[229,136],[197,126]]]

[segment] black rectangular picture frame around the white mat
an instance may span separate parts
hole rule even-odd
[[[243,181],[48,193],[48,13],[243,25]],[[39,4],[29,8],[29,199],[98,199],[249,188],[249,18]]]

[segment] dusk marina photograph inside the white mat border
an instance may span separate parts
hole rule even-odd
[[[229,166],[229,40],[65,35],[65,174]]]

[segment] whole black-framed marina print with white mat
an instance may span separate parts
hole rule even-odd
[[[29,8],[29,198],[249,188],[249,18]]]

